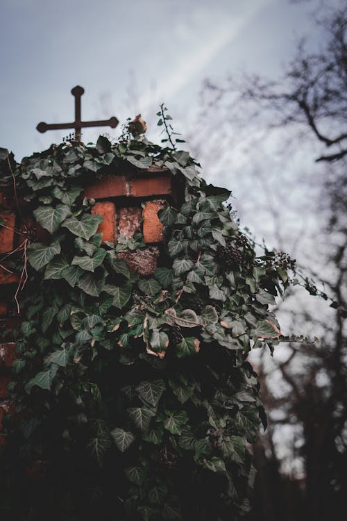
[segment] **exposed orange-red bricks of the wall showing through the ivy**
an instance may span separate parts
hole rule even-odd
[[[150,276],[158,266],[162,242],[158,210],[167,201],[175,201],[178,192],[177,183],[167,169],[150,167],[126,174],[112,172],[88,185],[83,196],[95,199],[92,213],[103,217],[98,230],[103,234],[103,242],[117,244],[119,238],[131,238],[136,231],[142,231],[146,246],[135,251],[125,249],[118,256],[124,258],[130,270],[138,269],[140,274]],[[21,323],[14,299],[21,274],[12,271],[10,261],[21,254],[26,239],[49,242],[50,236],[35,222],[30,206],[17,208],[10,186],[0,185],[0,219],[3,224],[0,226],[0,445],[3,445],[6,437],[2,420],[10,407],[7,386],[15,359],[13,331]]]

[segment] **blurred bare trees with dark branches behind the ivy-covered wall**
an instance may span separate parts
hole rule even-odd
[[[244,157],[230,182],[246,201],[236,203],[239,213],[254,220],[256,211],[266,238],[298,256],[337,303],[311,307],[296,292],[282,320],[319,342],[289,344],[254,361],[269,428],[255,450],[253,521],[339,519],[347,507],[347,6],[323,6],[314,24],[319,49],[298,41],[282,78],[206,80],[200,124],[189,138],[212,176],[221,169],[227,175],[235,155]],[[200,147],[206,142],[208,151]],[[301,228],[291,229],[290,216],[300,214]]]

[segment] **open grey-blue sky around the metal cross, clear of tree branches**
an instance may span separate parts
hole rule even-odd
[[[194,117],[204,78],[241,69],[278,74],[316,1],[0,0],[0,147],[17,160],[60,142],[82,85],[82,119],[142,113],[155,138],[158,105]],[[119,125],[120,128],[120,125]],[[85,131],[95,142],[100,132]]]

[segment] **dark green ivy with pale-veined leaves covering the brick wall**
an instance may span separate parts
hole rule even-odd
[[[102,217],[82,194],[105,174],[151,165],[182,179],[185,194],[160,210],[159,267],[141,276],[118,256],[142,249],[141,233],[102,244]],[[256,254],[230,192],[205,183],[187,151],[101,136],[1,167],[50,234],[27,235],[25,258],[12,261],[26,284],[2,454],[8,518],[238,519],[255,477],[250,446],[266,426],[247,356],[288,340],[271,306],[294,262]],[[25,469],[35,479],[18,502]]]

